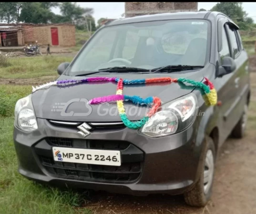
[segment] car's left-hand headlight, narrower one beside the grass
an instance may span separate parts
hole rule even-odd
[[[25,132],[31,132],[38,128],[31,95],[17,101],[15,106],[14,124]]]

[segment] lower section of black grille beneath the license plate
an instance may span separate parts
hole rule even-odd
[[[40,156],[45,169],[54,175],[75,180],[134,181],[141,174],[141,163],[123,163],[121,166],[76,164],[54,161]]]

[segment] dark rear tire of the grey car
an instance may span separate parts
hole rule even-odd
[[[246,124],[247,124],[248,106],[245,104],[244,111],[239,119],[238,123],[234,127],[231,136],[235,138],[243,138],[245,136]]]

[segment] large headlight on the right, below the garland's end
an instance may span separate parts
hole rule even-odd
[[[188,127],[195,119],[197,99],[194,94],[166,103],[139,132],[150,137],[172,135]]]

